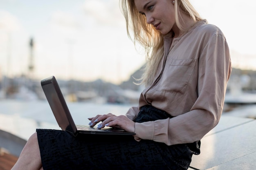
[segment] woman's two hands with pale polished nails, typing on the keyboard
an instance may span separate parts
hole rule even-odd
[[[135,131],[135,122],[124,115],[116,116],[112,113],[109,113],[107,115],[97,115],[88,119],[90,120],[89,124],[91,127],[102,121],[102,123],[99,124],[97,128],[101,129],[105,126],[109,126],[112,128],[123,129],[127,132]]]

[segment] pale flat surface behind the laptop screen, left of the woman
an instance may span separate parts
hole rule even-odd
[[[76,124],[88,124],[88,117],[113,113],[122,115],[132,105],[67,102]],[[0,100],[0,129],[28,139],[36,128],[60,129],[46,100]]]

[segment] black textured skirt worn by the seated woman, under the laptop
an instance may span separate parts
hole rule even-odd
[[[170,117],[153,106],[143,106],[136,122]],[[44,170],[186,170],[200,141],[167,146],[132,136],[83,135],[63,130],[37,129]]]

